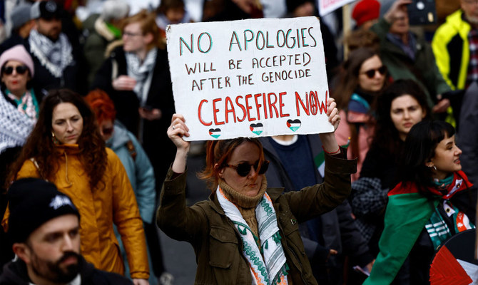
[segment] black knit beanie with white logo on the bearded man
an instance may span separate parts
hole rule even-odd
[[[51,182],[24,178],[14,182],[9,198],[9,234],[12,242],[25,242],[35,229],[65,214],[80,214],[71,199]]]

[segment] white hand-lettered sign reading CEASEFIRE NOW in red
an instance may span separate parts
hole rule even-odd
[[[333,131],[317,18],[178,24],[166,35],[186,140]]]

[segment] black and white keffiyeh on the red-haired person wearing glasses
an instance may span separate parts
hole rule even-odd
[[[148,98],[149,87],[153,78],[153,70],[156,65],[156,56],[158,54],[157,48],[152,48],[148,52],[143,63],[141,59],[134,53],[126,53],[126,65],[128,66],[128,76],[136,79],[136,86],[134,86],[134,93],[138,96],[141,105],[146,103]]]

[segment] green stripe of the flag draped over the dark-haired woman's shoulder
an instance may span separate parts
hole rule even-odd
[[[364,285],[392,283],[438,203],[419,193],[389,197],[380,253]]]

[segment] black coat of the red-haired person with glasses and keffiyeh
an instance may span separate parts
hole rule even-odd
[[[113,68],[113,65],[117,68]],[[128,66],[126,65],[126,55],[123,51],[123,46],[119,46],[113,50],[110,57],[96,73],[96,78],[91,88],[100,88],[108,93],[115,104],[116,118],[131,133],[138,135],[138,108],[140,107],[138,96],[133,91],[115,90],[111,85],[113,78],[122,75],[128,75]],[[168,171],[169,163],[173,161],[176,154],[176,147],[174,147],[166,134],[166,130],[168,130],[171,124],[171,117],[173,117],[175,112],[173,87],[171,86],[168,53],[166,50],[158,49],[156,66],[153,70],[153,78],[148,91],[146,105],[151,108],[158,108],[162,113],[162,117],[158,120],[144,120],[143,137],[139,138],[143,142],[143,148],[153,164],[156,173],[156,186],[157,189],[160,189],[164,175]]]

